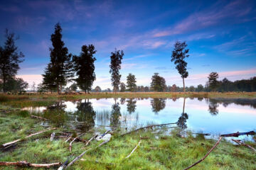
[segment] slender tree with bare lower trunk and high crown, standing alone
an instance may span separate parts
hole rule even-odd
[[[185,49],[188,45],[186,45],[186,41],[180,42],[176,41],[174,45],[174,50],[172,51],[171,55],[171,62],[176,64],[176,69],[178,73],[181,74],[181,78],[183,80],[183,91],[185,92],[185,82],[184,79],[188,77],[188,72],[186,71],[187,62],[184,61],[188,55],[188,49]]]

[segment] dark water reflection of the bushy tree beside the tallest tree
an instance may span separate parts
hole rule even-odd
[[[89,100],[78,103],[78,111],[75,112],[77,115],[78,122],[82,122],[82,124],[78,125],[80,130],[90,130],[90,128],[95,126],[95,111],[92,108],[92,103]]]

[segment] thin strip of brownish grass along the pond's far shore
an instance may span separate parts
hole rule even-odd
[[[91,94],[23,94],[23,95],[0,95],[0,102],[11,100],[43,100],[43,99],[81,99],[81,98],[256,98],[256,92],[119,92],[114,93],[91,93]]]

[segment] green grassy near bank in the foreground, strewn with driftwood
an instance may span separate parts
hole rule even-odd
[[[54,124],[50,124],[54,126]],[[10,111],[0,113],[0,145],[25,137],[33,132],[43,130],[41,120],[31,119],[26,111]],[[58,132],[67,132],[70,129],[59,128]],[[105,129],[95,129],[95,132],[105,132]],[[122,131],[113,132],[112,139],[102,147],[87,152],[82,158],[87,161],[78,161],[70,169],[184,169],[197,162],[208,150],[213,147],[215,140],[206,140],[202,135],[193,137],[178,137],[179,130],[164,135],[161,130],[139,131],[120,137]],[[95,147],[101,142],[96,140],[85,147],[82,142],[74,142],[72,153],[69,142],[63,138],[56,138],[50,142],[50,131],[41,135],[23,140],[15,147],[0,152],[0,162],[24,161],[31,163],[65,162],[81,154],[85,149]],[[77,135],[73,132],[73,135]],[[89,140],[93,132],[82,136]],[[142,140],[131,157],[124,159]],[[256,147],[255,142],[247,142]],[[97,161],[97,162],[95,162]],[[233,145],[223,139],[220,145],[200,164],[192,169],[256,169],[256,154],[244,146]],[[14,166],[0,166],[0,169],[16,169]],[[25,168],[31,169],[31,168]]]

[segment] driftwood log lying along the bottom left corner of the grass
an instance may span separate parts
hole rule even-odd
[[[22,166],[22,167],[35,167],[35,168],[50,168],[53,166],[60,166],[61,163],[52,163],[52,164],[31,164],[26,161],[21,161],[21,162],[0,162],[0,166]]]

